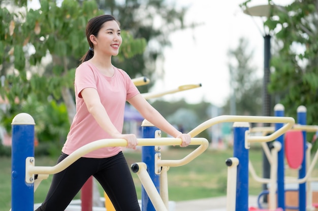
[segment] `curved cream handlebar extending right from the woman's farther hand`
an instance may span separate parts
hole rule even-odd
[[[233,115],[222,115],[211,118],[200,125],[195,129],[190,131],[188,134],[191,137],[195,137],[200,134],[205,129],[210,126],[222,123],[222,122],[266,122],[266,123],[285,123],[279,130],[275,131],[273,134],[268,136],[247,136],[247,141],[249,142],[268,142],[275,140],[277,137],[284,134],[286,131],[291,129],[295,123],[295,119],[292,117],[275,117],[275,116],[233,116]]]

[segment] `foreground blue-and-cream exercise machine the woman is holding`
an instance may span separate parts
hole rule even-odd
[[[228,201],[231,202],[228,204],[228,210],[233,210],[233,200],[236,201],[235,210],[247,210],[248,204],[248,145],[252,142],[257,141],[270,141],[274,140],[277,137],[281,136],[287,130],[292,128],[294,124],[294,119],[291,117],[264,117],[264,116],[217,116],[212,119],[209,119],[202,124],[198,125],[195,129],[189,132],[191,137],[195,137],[200,134],[202,131],[206,130],[210,126],[221,123],[221,122],[241,122],[234,123],[234,157],[236,157],[239,161],[239,165],[237,165],[237,183],[236,186],[229,187],[232,191],[236,192],[236,196],[233,194],[228,196]],[[282,122],[285,123],[280,129],[275,131],[273,134],[269,136],[249,136],[246,131],[248,131],[248,123],[246,122],[268,122],[268,123],[277,123]],[[79,148],[74,153],[69,155],[65,160],[56,164],[55,166],[35,166],[35,158],[34,158],[34,119],[26,113],[21,113],[15,116],[12,121],[12,211],[29,211],[34,208],[34,183],[35,183],[35,174],[38,175],[49,175],[56,174],[71,163],[73,163],[76,159],[81,157],[82,155],[88,153],[89,151],[96,150],[101,147],[108,146],[126,146],[126,141],[121,139],[105,139],[98,140],[87,144],[84,147]],[[149,127],[150,132],[146,132],[150,136],[153,134],[152,130],[155,130],[154,126],[144,125],[145,128]],[[152,132],[151,132],[152,131]],[[160,133],[156,133],[158,136]],[[146,136],[146,135],[145,135]],[[153,135],[154,136],[154,135]],[[156,164],[152,163],[147,164],[143,163],[135,163],[133,164],[133,170],[136,172],[141,179],[143,187],[145,189],[146,194],[149,197],[149,201],[154,208],[154,210],[158,211],[167,211],[167,194],[166,196],[161,196],[167,193],[167,178],[163,176],[161,179],[163,184],[161,184],[160,192],[161,195],[157,191],[157,187],[154,180],[150,177],[150,174],[145,174],[146,167],[150,168],[152,166],[154,171],[159,174],[165,175],[166,171],[162,171],[166,168],[166,166],[180,166],[186,164],[193,160],[195,157],[199,156],[202,152],[205,151],[208,147],[208,141],[204,138],[192,138],[192,145],[200,145],[196,148],[192,153],[188,154],[181,160],[161,160],[161,156],[158,156],[155,149],[158,150],[155,146],[164,146],[164,145],[180,145],[181,139],[173,139],[173,138],[142,138],[138,140],[139,146],[149,146],[151,147],[149,150],[153,150],[156,157],[153,159]],[[247,148],[246,148],[247,147]],[[151,153],[147,153],[150,154]],[[151,161],[152,162],[152,161]],[[230,163],[230,162],[229,162]],[[137,167],[138,166],[138,167]],[[161,170],[161,171],[159,171]],[[150,172],[150,171],[149,171]],[[149,177],[151,179],[149,179]],[[42,178],[42,177],[41,177]],[[229,183],[235,183],[231,179],[228,179]],[[234,178],[235,179],[235,178]],[[239,182],[238,182],[239,181]],[[164,187],[165,186],[165,187]],[[240,191],[238,192],[237,189]],[[234,191],[236,190],[236,191]],[[145,203],[147,200],[144,201]],[[142,206],[147,208],[146,210],[151,210],[151,206],[144,205]],[[143,210],[145,210],[143,208]],[[232,209],[231,209],[232,208]]]

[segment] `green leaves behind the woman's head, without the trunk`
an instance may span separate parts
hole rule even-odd
[[[65,0],[61,7],[58,7],[56,2],[51,0],[43,0],[40,3],[39,10],[29,10],[25,16],[21,17],[24,21],[14,21],[12,17],[17,14],[10,14],[5,8],[0,9],[0,15],[4,16],[1,26],[4,29],[2,30],[4,34],[1,34],[0,47],[6,49],[13,45],[14,67],[19,70],[19,74],[7,75],[8,82],[6,84],[16,84],[16,77],[22,79],[18,83],[19,86],[23,86],[21,82],[28,83],[31,80],[33,86],[27,90],[27,93],[37,92],[39,86],[43,84],[49,85],[46,88],[48,93],[53,92],[53,96],[58,100],[60,98],[58,93],[61,89],[73,88],[74,75],[68,74],[68,72],[70,69],[76,68],[77,64],[73,67],[66,67],[68,58],[79,60],[87,52],[86,23],[93,16],[103,14],[103,11],[98,9],[98,5],[94,1],[85,1],[83,4],[79,4],[75,0]],[[13,30],[10,29],[10,24],[11,27],[14,27]],[[123,32],[123,36],[127,40],[122,45],[122,56],[119,56],[121,59],[143,53],[146,46],[143,38],[134,39],[129,32]],[[33,46],[35,52],[28,56],[23,48],[26,45]],[[31,73],[31,79],[26,79],[26,74],[30,73],[25,69],[26,58],[30,65],[39,65],[47,52],[52,55],[54,64],[49,77],[42,78],[43,75],[39,71],[37,74]],[[9,57],[5,56],[6,58]],[[11,89],[8,90],[11,92]],[[43,90],[43,86],[40,90]],[[8,92],[2,92],[2,95],[4,94],[8,94]],[[16,93],[13,93],[14,95]],[[19,99],[26,98],[26,96],[21,95],[17,97]],[[9,100],[11,103],[13,102],[12,98]]]

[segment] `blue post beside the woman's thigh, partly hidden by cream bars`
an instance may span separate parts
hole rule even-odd
[[[159,129],[150,124],[147,120],[144,120],[142,123],[142,138],[155,138],[155,131],[157,130]],[[156,175],[154,172],[155,154],[154,146],[143,146],[141,149],[141,160],[146,163],[147,172],[154,186],[158,192],[160,192],[160,175]],[[154,206],[143,186],[141,187],[141,210],[155,211]]]

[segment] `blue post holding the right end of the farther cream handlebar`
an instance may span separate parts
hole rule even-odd
[[[245,131],[248,129],[247,122],[233,124],[233,157],[239,160],[236,180],[236,211],[248,210],[248,149],[245,148]]]

